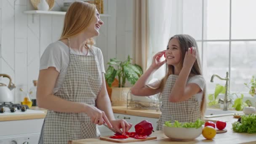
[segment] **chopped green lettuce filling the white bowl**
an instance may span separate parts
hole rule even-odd
[[[171,121],[166,121],[165,126],[171,127],[171,128],[201,128],[202,125],[205,122],[203,120],[197,119],[195,123],[179,123],[179,121],[175,120],[174,123],[171,123]]]

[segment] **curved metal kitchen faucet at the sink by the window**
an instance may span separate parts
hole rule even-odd
[[[219,75],[212,75],[211,76],[211,82],[213,83],[213,78],[218,77],[220,80],[226,80],[226,91],[225,91],[225,96],[224,99],[219,99],[219,104],[224,104],[223,110],[228,110],[229,104],[232,103],[232,99],[228,99],[228,93],[227,93],[227,88],[228,88],[228,81],[229,81],[229,73],[227,72],[227,76],[225,78],[221,78]]]

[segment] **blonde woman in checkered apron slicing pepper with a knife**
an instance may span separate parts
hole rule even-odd
[[[37,101],[48,112],[40,144],[97,137],[96,124],[107,123],[120,133],[131,128],[131,123],[115,120],[104,80],[103,56],[92,46],[101,25],[95,5],[74,2],[65,15],[60,40],[45,49]]]

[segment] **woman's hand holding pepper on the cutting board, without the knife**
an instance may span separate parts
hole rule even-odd
[[[128,123],[126,120],[112,120],[110,121],[110,123],[112,124],[113,128],[115,128],[115,130],[117,130],[119,133],[123,133],[125,134],[126,132],[128,132],[130,130],[130,128],[132,127],[131,123]],[[122,131],[120,131],[120,128],[122,128]]]

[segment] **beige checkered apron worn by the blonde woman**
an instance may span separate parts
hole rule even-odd
[[[91,50],[91,49],[90,49]],[[62,87],[54,95],[68,101],[95,106],[102,77],[96,54],[80,56],[69,50],[69,66]],[[99,130],[85,113],[47,111],[39,144],[67,144],[68,140],[100,136]]]

